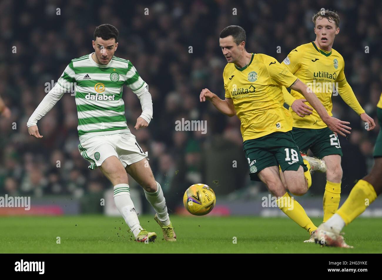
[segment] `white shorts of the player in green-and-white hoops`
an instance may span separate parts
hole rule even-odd
[[[100,166],[106,158],[112,155],[119,158],[124,168],[147,157],[147,152],[143,152],[135,136],[131,133],[94,136],[81,142],[78,150],[83,158],[90,162],[89,169],[91,170]]]

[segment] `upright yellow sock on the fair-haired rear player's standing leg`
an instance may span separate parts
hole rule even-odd
[[[326,181],[324,200],[324,222],[326,222],[338,210],[341,198],[341,183]]]

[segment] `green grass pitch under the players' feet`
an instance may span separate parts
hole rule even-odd
[[[140,215],[142,226],[158,234],[155,243],[144,244],[133,241],[122,218],[0,217],[0,253],[382,253],[382,219],[356,219],[345,228],[355,248],[343,249],[303,243],[309,235],[288,218],[171,218],[176,243],[162,240],[153,216]]]

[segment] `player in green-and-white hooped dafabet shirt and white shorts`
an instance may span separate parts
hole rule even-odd
[[[147,200],[156,212],[154,219],[162,228],[165,240],[176,241],[162,188],[155,181],[146,160],[147,152],[143,152],[126,124],[123,85],[131,88],[141,102],[142,114],[134,126],[137,130],[149,125],[152,100],[146,82],[133,64],[113,55],[118,47],[118,33],[110,24],[102,24],[95,29],[92,41],[95,52],[73,59],[66,66],[57,84],[29,118],[28,131],[32,136],[42,138],[37,121],[74,85],[79,152],[89,161],[91,170],[98,166],[112,182],[115,205],[136,240],[154,241],[157,235],[142,229],[139,224],[130,198],[127,173],[143,187]]]

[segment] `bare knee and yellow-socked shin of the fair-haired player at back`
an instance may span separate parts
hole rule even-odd
[[[341,198],[341,156],[326,155],[322,158],[326,164],[326,186],[322,202],[326,222],[337,210]]]

